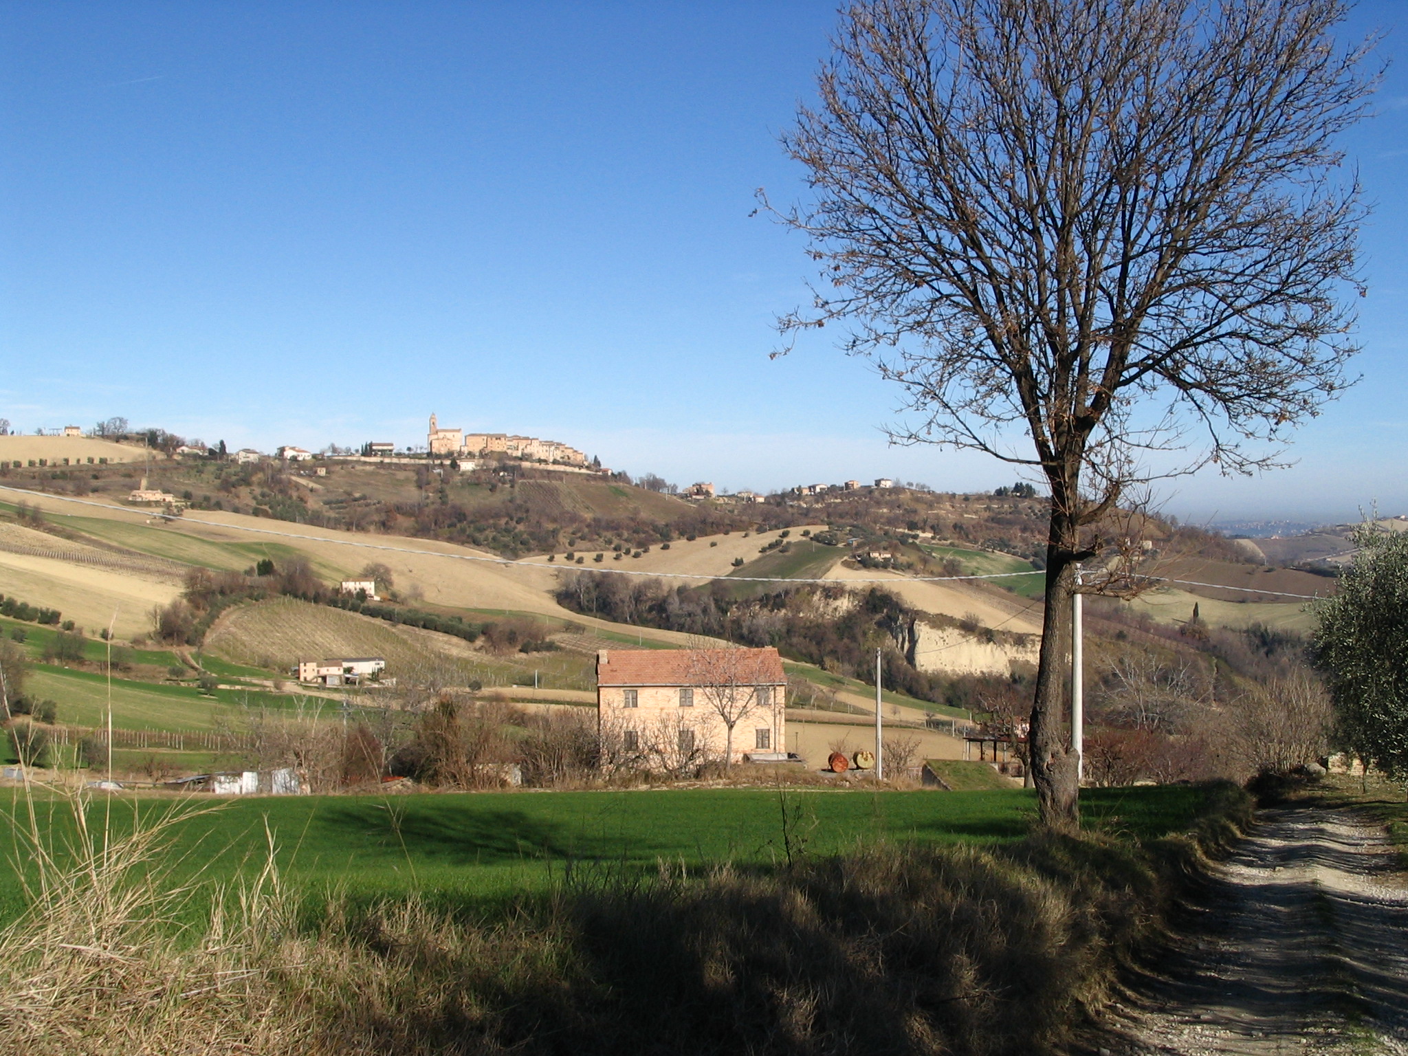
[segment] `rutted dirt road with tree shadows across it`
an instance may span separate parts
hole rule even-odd
[[[1408,1055],[1408,890],[1346,810],[1267,811],[1101,1052]]]

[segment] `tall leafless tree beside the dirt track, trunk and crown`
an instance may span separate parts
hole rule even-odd
[[[1077,817],[1062,703],[1074,565],[1135,491],[1270,466],[1356,351],[1364,111],[1340,0],[857,0],[784,137],[781,214],[842,322],[907,391],[897,442],[987,452],[1050,493],[1032,770]],[[1025,439],[1024,439],[1025,438]],[[1183,456],[1169,452],[1181,451]]]

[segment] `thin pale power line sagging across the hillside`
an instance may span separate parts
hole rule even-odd
[[[94,503],[87,498],[72,498],[69,496],[55,496],[46,491],[31,491],[23,487],[13,487],[10,484],[0,484],[0,489],[6,491],[15,491],[17,494],[23,496],[34,496],[35,498],[48,498],[61,503],[76,503],[79,505],[92,505],[99,510],[110,510],[110,511],[117,511],[124,514],[138,514],[138,515],[144,514],[144,511],[141,510],[131,510],[124,505]],[[244,524],[222,524],[220,521],[203,521],[199,517],[186,517],[186,515],[176,517],[172,514],[152,514],[152,513],[145,513],[145,515],[159,517],[163,521],[172,521],[172,522],[201,524],[206,525],[207,528],[227,528],[237,532],[252,532],[255,535],[273,535],[280,539],[298,539],[303,542],[325,542],[325,543],[332,543],[334,546],[356,546],[365,551],[382,551],[386,553],[413,553],[420,558],[449,558],[451,560],[470,560],[470,562],[479,562],[482,565],[497,565],[500,567],[545,569],[545,570],[556,570],[560,567],[570,567],[573,570],[576,569],[576,566],[546,565],[543,562],[510,560],[508,558],[483,558],[474,553],[441,553],[438,551],[421,551],[411,546],[390,546],[387,543],[379,543],[379,542],[358,542],[356,539],[332,539],[320,535],[300,535],[298,532],[280,532],[275,531],[273,528],[251,528],[249,525]],[[986,574],[974,574],[974,576],[901,576],[891,579],[869,579],[869,577],[803,579],[790,576],[717,576],[712,573],[703,573],[703,572],[638,572],[635,569],[611,569],[611,567],[603,567],[603,569],[584,567],[583,572],[600,572],[611,576],[641,576],[643,579],[687,579],[687,580],[703,580],[703,582],[717,580],[721,583],[817,583],[826,586],[838,586],[838,584],[845,586],[848,583],[888,583],[888,584],[953,583],[953,582],[972,582],[972,580],[1011,579],[1014,576],[1046,574],[1043,569],[1031,569],[1029,572],[990,572]],[[1321,600],[1321,597],[1324,597],[1321,594],[1293,594],[1286,590],[1262,590],[1257,587],[1228,587],[1221,583],[1198,583],[1195,580],[1187,580],[1187,579],[1170,579],[1169,576],[1131,574],[1129,579],[1145,579],[1145,580],[1155,580],[1159,583],[1177,583],[1180,586],[1207,587],[1209,590],[1235,590],[1243,594],[1271,594],[1274,597],[1291,597],[1291,598],[1301,598],[1304,601],[1318,601]]]

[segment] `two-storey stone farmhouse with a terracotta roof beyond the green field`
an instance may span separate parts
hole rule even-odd
[[[770,648],[603,649],[597,722],[608,752],[652,769],[784,762],[787,674]]]

